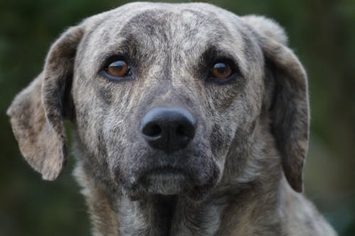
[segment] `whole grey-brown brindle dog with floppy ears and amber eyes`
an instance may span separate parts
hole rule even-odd
[[[337,235],[302,196],[307,76],[271,19],[202,3],[86,18],[7,114],[45,180],[70,120],[94,235]]]

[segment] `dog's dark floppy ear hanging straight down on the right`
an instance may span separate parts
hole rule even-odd
[[[266,106],[283,171],[290,186],[302,192],[310,119],[305,69],[286,46],[284,30],[277,23],[261,16],[245,16],[244,21],[256,30],[266,60],[266,89],[272,96]]]

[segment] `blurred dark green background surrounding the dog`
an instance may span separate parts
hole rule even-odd
[[[42,181],[21,157],[5,112],[65,28],[126,2],[0,1],[0,235],[89,235],[87,208],[71,175],[74,158],[58,181]],[[306,195],[340,235],[355,235],[355,1],[209,3],[239,15],[265,15],[285,27],[310,82]]]

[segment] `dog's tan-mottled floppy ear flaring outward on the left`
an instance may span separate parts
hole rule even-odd
[[[16,96],[7,111],[21,153],[43,179],[56,179],[67,159],[63,119],[70,113],[73,61],[82,35],[77,26],[55,41],[43,72]]]

